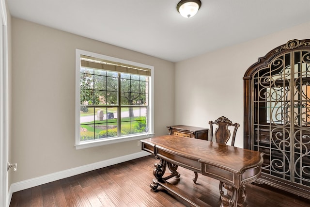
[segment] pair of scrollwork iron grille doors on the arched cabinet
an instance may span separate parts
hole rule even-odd
[[[279,55],[252,81],[253,146],[262,172],[310,186],[310,51]]]

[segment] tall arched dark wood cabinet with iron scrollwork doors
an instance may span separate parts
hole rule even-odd
[[[258,181],[310,199],[310,39],[271,50],[243,79],[244,147],[264,153]]]

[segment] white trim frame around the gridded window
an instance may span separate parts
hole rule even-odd
[[[149,97],[151,97],[151,101],[149,102],[149,131],[147,134],[139,134],[139,135],[131,135],[131,136],[123,136],[123,137],[113,137],[109,139],[98,139],[94,141],[84,141],[80,142],[80,67],[81,67],[81,61],[80,56],[81,55],[87,55],[95,58],[100,58],[103,60],[113,61],[116,63],[123,63],[123,64],[130,64],[135,65],[139,67],[149,68],[151,69],[151,80],[150,82],[150,90],[149,90]],[[76,49],[76,117],[75,117],[75,146],[76,149],[84,149],[94,146],[100,146],[100,145],[107,145],[112,143],[122,143],[127,142],[131,140],[141,140],[146,139],[154,136],[154,66],[146,65],[146,64],[140,64],[135,63],[132,61],[127,61],[119,58],[114,58],[106,55],[101,55],[81,49]]]

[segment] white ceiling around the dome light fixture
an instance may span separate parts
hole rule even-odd
[[[171,62],[310,22],[310,0],[201,1],[191,18],[177,12],[179,0],[6,2],[14,17]]]

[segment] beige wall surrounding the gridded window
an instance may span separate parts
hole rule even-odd
[[[155,135],[173,124],[173,63],[12,18],[11,183],[140,152],[137,141],[75,149],[76,48],[153,65]]]

